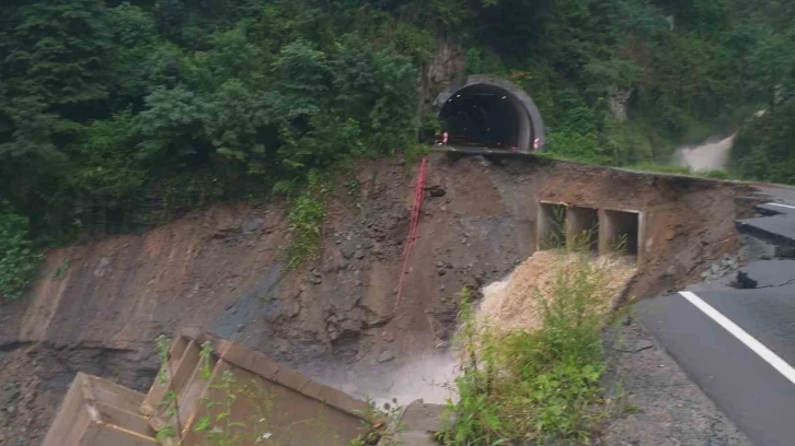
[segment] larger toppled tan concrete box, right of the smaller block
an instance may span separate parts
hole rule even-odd
[[[178,431],[184,445],[224,435],[238,446],[343,446],[361,434],[365,402],[227,340],[181,334],[168,364],[171,379],[155,380],[140,411],[153,430]]]

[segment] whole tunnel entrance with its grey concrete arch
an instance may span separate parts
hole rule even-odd
[[[488,110],[482,113],[487,116],[458,117],[473,101]],[[472,132],[473,129],[465,128],[469,124],[475,128],[472,138],[483,145],[515,146],[530,153],[543,150],[545,144],[544,124],[535,103],[527,92],[505,79],[470,75],[453,81],[436,97],[433,109],[442,121],[443,131]],[[495,134],[488,137],[486,133],[492,130]]]

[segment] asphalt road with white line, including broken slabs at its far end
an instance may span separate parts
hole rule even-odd
[[[768,204],[760,212],[771,216],[738,227],[776,244],[795,243],[795,207]],[[795,259],[757,261],[741,270],[758,282],[754,289],[696,286],[641,302],[636,313],[754,444],[793,446]]]

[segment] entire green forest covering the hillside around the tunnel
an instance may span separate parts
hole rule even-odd
[[[666,163],[738,130],[731,175],[795,184],[794,21],[786,0],[3,1],[0,295],[42,247],[418,150],[441,38],[533,97],[553,156]]]

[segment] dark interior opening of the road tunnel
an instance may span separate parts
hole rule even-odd
[[[492,85],[471,85],[453,94],[439,114],[449,144],[511,149],[519,143],[519,106]]]

